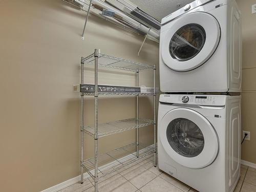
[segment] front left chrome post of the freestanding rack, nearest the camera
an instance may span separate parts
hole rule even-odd
[[[94,50],[94,77],[95,77],[95,134],[94,134],[94,147],[95,147],[95,162],[94,162],[94,190],[98,192],[98,53],[99,50]]]

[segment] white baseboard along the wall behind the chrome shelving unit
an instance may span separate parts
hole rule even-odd
[[[154,147],[154,144],[150,145],[150,146]],[[140,150],[139,152],[143,152],[143,151],[144,151],[144,149]],[[125,160],[129,160],[129,159],[131,159],[133,157],[134,157],[134,155],[132,155],[132,154],[131,155],[127,155],[125,157],[122,157],[122,158],[118,159],[118,161],[122,162],[122,161],[125,161]],[[108,169],[108,168],[112,167],[113,164],[117,164],[117,161],[113,161],[113,162],[110,162],[110,163],[108,163],[106,165],[100,166],[99,169],[100,170]],[[92,171],[91,173],[94,174],[94,171]],[[84,173],[83,174],[83,179],[86,179],[86,178],[89,178],[89,177],[90,177],[90,175],[88,173]],[[73,185],[73,184],[75,184],[75,183],[77,183],[79,181],[80,181],[80,175],[77,176],[77,177],[74,177],[72,179],[69,179],[67,181],[64,181],[62,183],[59,183],[57,185],[54,185],[54,186],[52,186],[50,188],[47,188],[45,190],[42,190],[40,192],[56,192],[56,191],[59,191],[59,190],[61,190],[63,188],[66,188],[66,187],[68,187],[70,185]]]

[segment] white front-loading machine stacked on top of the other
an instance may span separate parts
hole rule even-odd
[[[162,92],[241,92],[241,12],[236,1],[195,1],[161,24]]]

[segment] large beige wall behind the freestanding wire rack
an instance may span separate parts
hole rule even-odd
[[[102,53],[156,64],[158,44],[90,16],[86,39],[80,34],[86,14],[61,0],[0,1],[0,191],[40,191],[79,174],[79,83],[81,56]],[[146,78],[147,77],[147,78]],[[152,73],[140,81],[152,86]],[[93,82],[92,70],[85,82]],[[101,70],[99,83],[135,85],[135,75]],[[158,84],[158,83],[157,83]],[[86,124],[94,121],[94,100],[86,98]],[[152,118],[152,99],[143,97],[140,114]],[[135,97],[99,99],[99,121],[135,117]],[[141,131],[153,143],[153,127]],[[135,141],[135,132],[99,140],[100,151]],[[93,155],[93,139],[85,137]]]

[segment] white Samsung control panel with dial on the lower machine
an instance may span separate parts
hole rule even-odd
[[[173,104],[196,104],[206,106],[225,106],[226,95],[160,95],[159,101]]]

